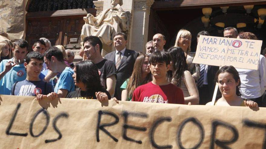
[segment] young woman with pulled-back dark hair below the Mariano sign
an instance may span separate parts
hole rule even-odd
[[[217,71],[215,78],[219,84],[222,98],[216,100],[214,105],[258,107],[256,102],[241,98],[239,89],[241,81],[235,67],[223,66]],[[209,102],[206,105],[213,105],[213,103]]]

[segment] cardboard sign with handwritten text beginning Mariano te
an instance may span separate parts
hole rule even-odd
[[[261,40],[200,36],[193,63],[258,70]]]

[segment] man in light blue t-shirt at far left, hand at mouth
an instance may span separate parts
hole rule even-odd
[[[0,94],[10,95],[12,85],[26,79],[24,58],[28,53],[28,46],[25,39],[18,39],[12,48],[14,57],[0,63]]]

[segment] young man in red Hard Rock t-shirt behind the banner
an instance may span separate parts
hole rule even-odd
[[[152,81],[136,88],[132,101],[184,104],[183,91],[166,79],[170,61],[170,55],[164,51],[151,54]]]

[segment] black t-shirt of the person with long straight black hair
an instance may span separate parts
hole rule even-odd
[[[106,93],[108,96],[108,99],[111,99],[111,95],[108,91],[106,91],[104,88],[100,89],[99,92],[103,92]],[[66,98],[75,98],[75,99],[97,99],[95,96],[95,92],[93,93],[89,93],[89,95],[93,95],[93,96],[89,96],[86,97],[86,91],[81,91],[80,89],[70,92],[66,95]]]

